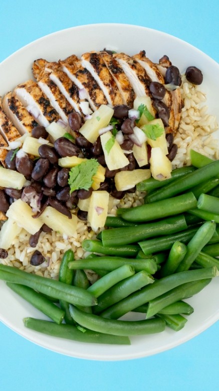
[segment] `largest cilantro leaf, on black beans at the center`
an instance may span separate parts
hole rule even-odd
[[[96,159],[86,160],[75,167],[72,167],[69,173],[68,183],[70,185],[70,194],[74,190],[89,190],[93,183],[93,175],[98,170],[99,163]]]

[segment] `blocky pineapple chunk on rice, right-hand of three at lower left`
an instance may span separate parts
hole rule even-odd
[[[72,215],[72,219],[69,219],[52,207],[47,207],[40,219],[42,223],[48,225],[53,231],[60,232],[62,235],[72,236],[77,229],[77,216]]]

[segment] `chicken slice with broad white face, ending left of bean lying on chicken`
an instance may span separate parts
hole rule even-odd
[[[128,77],[132,88],[137,96],[147,95],[151,97],[149,84],[151,82],[144,68],[134,58],[125,53],[113,54],[124,73]]]

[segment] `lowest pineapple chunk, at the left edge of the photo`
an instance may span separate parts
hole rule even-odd
[[[15,220],[8,219],[0,231],[0,248],[8,250],[13,244],[14,239],[20,234],[22,227],[19,227]]]

